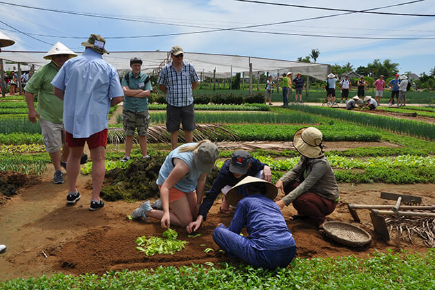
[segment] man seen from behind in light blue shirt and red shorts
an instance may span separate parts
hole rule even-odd
[[[80,170],[80,159],[85,143],[88,143],[92,167],[92,198],[90,211],[104,206],[99,198],[103,186],[104,156],[107,144],[108,112],[124,98],[117,70],[103,60],[106,40],[91,34],[81,45],[86,49],[81,57],[66,61],[51,84],[54,93],[64,101],[64,124],[66,142],[70,155],[66,166],[68,195],[66,202],[74,204],[80,199],[76,182]]]

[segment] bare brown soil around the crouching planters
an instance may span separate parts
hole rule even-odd
[[[8,249],[0,256],[0,281],[59,272],[101,274],[110,270],[230,260],[218,251],[211,237],[218,222],[228,226],[232,218],[232,214],[220,213],[220,198],[198,231],[202,234],[200,237],[188,238],[185,229],[173,228],[179,233],[179,239],[189,241],[186,249],[174,255],[146,256],[135,249],[136,238],[141,235],[161,236],[164,229],[157,220],[146,222],[126,218],[126,214],[131,214],[140,202],[106,201],[104,209],[89,211],[91,191],[87,189],[87,184],[90,176],[79,175],[77,189],[81,193],[81,200],[73,206],[67,206],[67,180],[66,176],[65,184],[53,184],[52,169],[49,168],[40,183],[21,189],[18,195],[1,205],[0,244],[6,244]],[[339,184],[339,187],[341,200],[329,218],[351,222],[365,229],[373,238],[371,244],[355,249],[333,242],[305,221],[288,221],[289,215],[296,213],[292,206],[288,206],[283,210],[283,215],[296,240],[298,257],[356,255],[365,258],[376,250],[427,251],[423,241],[418,238],[414,238],[414,244],[395,236],[389,242],[383,241],[374,233],[369,211],[359,210],[361,222],[356,223],[347,210],[347,204],[394,204],[394,201],[381,200],[381,191],[419,195],[423,197],[424,204],[435,204],[435,184]],[[208,247],[215,251],[204,253]]]

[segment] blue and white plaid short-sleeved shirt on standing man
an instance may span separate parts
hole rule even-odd
[[[192,83],[199,81],[195,68],[183,61],[183,67],[177,72],[170,64],[166,64],[160,72],[158,84],[166,86],[166,101],[171,106],[184,107],[193,104]]]

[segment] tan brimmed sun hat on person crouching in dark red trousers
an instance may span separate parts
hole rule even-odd
[[[293,146],[305,157],[318,158],[325,155],[322,148],[322,132],[318,128],[308,127],[296,131]]]

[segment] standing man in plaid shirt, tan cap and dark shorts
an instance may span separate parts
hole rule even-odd
[[[171,133],[172,148],[177,148],[180,121],[183,124],[186,143],[193,142],[195,130],[195,110],[193,109],[192,90],[198,86],[200,78],[191,64],[183,61],[184,52],[180,46],[171,49],[171,63],[160,72],[157,83],[166,93],[166,131]]]

